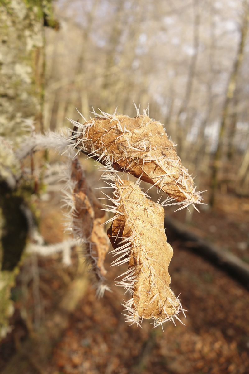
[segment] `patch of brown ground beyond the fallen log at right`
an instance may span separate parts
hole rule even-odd
[[[186,209],[174,212],[177,208],[171,208],[166,212],[185,223],[191,217],[189,230],[249,263],[249,198],[218,194],[214,209],[205,205],[197,208],[200,212],[194,210],[188,217]]]

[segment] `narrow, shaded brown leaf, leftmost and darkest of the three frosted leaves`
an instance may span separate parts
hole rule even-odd
[[[71,180],[75,183],[72,193],[74,211],[72,227],[77,237],[85,242],[85,256],[89,259],[97,279],[104,280],[104,260],[109,249],[108,236],[104,226],[106,215],[85,178],[77,158],[72,161]]]

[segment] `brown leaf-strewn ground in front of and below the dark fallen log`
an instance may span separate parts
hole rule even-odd
[[[248,373],[249,294],[220,270],[175,246],[172,289],[186,327],[124,322],[121,290],[101,300],[88,289],[54,349],[49,373]],[[116,272],[109,273],[113,279]],[[113,282],[113,281],[111,281]]]

